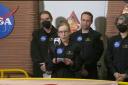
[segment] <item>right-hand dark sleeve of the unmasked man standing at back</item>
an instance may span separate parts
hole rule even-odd
[[[101,34],[98,33],[93,35],[92,37],[93,37],[92,53],[90,54],[90,57],[87,58],[88,61],[85,62],[85,65],[97,64],[104,51],[104,45],[103,45],[103,40],[101,39]]]

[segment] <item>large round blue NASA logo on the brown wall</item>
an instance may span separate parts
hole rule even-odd
[[[14,27],[14,13],[18,8],[10,11],[3,4],[0,4],[0,39],[7,37]]]

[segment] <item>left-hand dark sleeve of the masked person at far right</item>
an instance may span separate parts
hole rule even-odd
[[[112,46],[112,39],[108,39],[107,41],[107,50],[105,53],[105,62],[108,70],[114,74],[116,72],[114,65],[113,65],[113,46]]]

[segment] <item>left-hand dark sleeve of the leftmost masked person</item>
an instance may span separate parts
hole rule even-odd
[[[33,63],[41,63],[37,31],[34,31],[32,34],[31,58]]]

